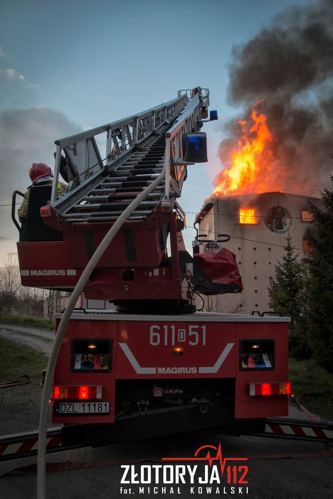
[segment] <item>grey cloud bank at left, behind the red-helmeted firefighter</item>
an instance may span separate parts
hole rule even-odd
[[[30,185],[29,169],[34,162],[54,165],[54,141],[82,128],[54,109],[33,107],[0,111],[0,197],[1,204],[12,203],[14,190],[25,192]],[[20,198],[18,197],[18,201]],[[11,220],[11,207],[1,207],[2,251],[8,252],[18,234]]]

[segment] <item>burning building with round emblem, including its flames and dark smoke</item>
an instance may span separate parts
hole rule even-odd
[[[233,47],[227,102],[238,114],[224,123],[221,171],[196,218],[200,233],[231,235],[226,247],[243,278],[242,295],[217,298],[219,311],[240,298],[244,312],[267,310],[287,235],[298,258],[306,255],[307,199],[320,205],[313,196],[332,173],[332,23],[333,2],[317,0],[287,8]]]

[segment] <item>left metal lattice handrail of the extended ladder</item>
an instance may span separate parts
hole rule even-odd
[[[78,183],[87,180],[105,168],[112,170],[113,164],[119,162],[124,154],[128,154],[149,135],[158,130],[165,122],[169,121],[188,102],[188,96],[182,95],[157,107],[142,113],[129,116],[122,120],[86,130],[69,137],[56,140],[56,159],[54,167],[54,180],[51,202],[57,199],[57,185],[59,180],[62,151],[67,162],[78,178]],[[96,136],[106,133],[106,164],[103,164]],[[79,166],[78,166],[79,165]],[[92,165],[94,165],[92,167]]]

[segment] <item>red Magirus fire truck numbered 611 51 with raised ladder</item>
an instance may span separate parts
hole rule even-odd
[[[250,427],[288,414],[288,318],[197,311],[200,297],[242,285],[219,241],[198,236],[190,255],[182,237],[178,200],[188,168],[207,161],[201,128],[217,119],[206,119],[208,89],[196,90],[57,140],[53,186],[30,189],[22,227],[13,208],[22,284],[71,291],[133,206],[83,290],[114,310],[74,310],[61,343],[52,404],[66,442]],[[60,175],[68,186],[58,195]]]

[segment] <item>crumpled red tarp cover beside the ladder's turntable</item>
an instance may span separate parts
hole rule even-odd
[[[222,248],[219,252],[198,253],[193,258],[213,283],[235,284],[241,290],[243,289],[236,255],[229,249]]]

